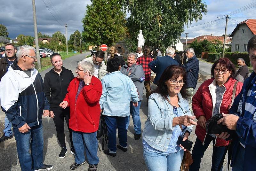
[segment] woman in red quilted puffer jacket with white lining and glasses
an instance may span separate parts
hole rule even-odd
[[[220,58],[211,69],[213,78],[206,80],[197,90],[192,99],[192,108],[196,116],[196,143],[193,147],[192,158],[193,163],[190,165],[189,171],[199,171],[200,162],[205,150],[209,144],[213,143],[212,152],[212,171],[217,171],[225,148],[229,141],[220,139],[215,135],[206,134],[205,124],[212,116],[218,113],[228,113],[231,107],[232,93],[235,78],[236,67],[228,58]],[[239,94],[243,86],[242,82],[238,82],[236,86],[236,95]]]

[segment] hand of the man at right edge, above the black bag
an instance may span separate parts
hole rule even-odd
[[[239,119],[239,116],[236,116],[233,114],[224,114],[224,113],[222,113],[222,115],[224,117],[218,120],[217,123],[218,124],[222,123],[222,125],[226,125],[230,130],[236,130],[236,123],[237,123],[237,120]]]

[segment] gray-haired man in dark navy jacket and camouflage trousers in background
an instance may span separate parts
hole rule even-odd
[[[192,112],[192,97],[194,89],[196,88],[199,71],[199,60],[196,58],[195,51],[193,48],[185,50],[185,55],[188,58],[188,62],[183,65],[187,72],[187,92],[188,92],[188,104],[190,111]]]

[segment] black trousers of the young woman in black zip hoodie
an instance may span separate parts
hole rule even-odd
[[[68,120],[70,118],[69,107],[67,107],[66,109],[52,107],[52,111],[55,115],[53,118],[53,121],[56,127],[57,138],[60,142],[61,147],[66,147],[65,133],[64,133],[64,118],[68,126],[69,125]],[[74,149],[73,140],[72,140],[72,130],[69,128],[69,126],[68,126],[68,131],[69,131],[71,148]]]

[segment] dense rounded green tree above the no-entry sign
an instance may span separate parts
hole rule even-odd
[[[92,4],[87,5],[87,11],[82,19],[83,39],[97,46],[103,43],[110,46],[122,39],[126,33],[125,10],[122,9],[122,1],[91,1]]]

